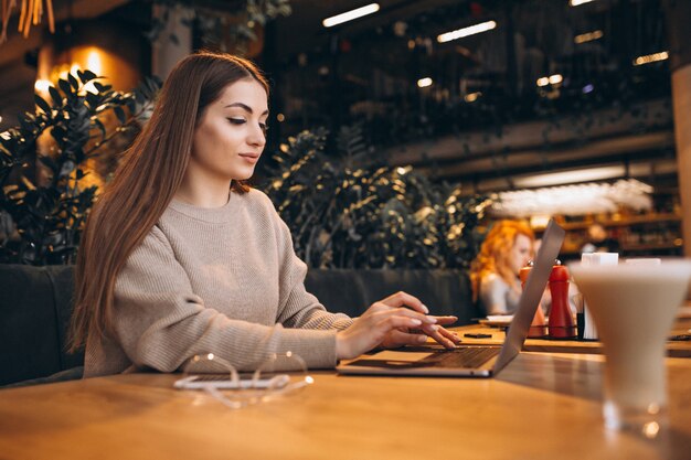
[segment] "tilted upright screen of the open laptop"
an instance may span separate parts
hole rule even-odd
[[[533,269],[525,281],[518,309],[513,314],[501,353],[495,364],[495,374],[509,364],[523,347],[530,324],[542,299],[542,292],[544,292],[548,279],[552,272],[554,259],[556,259],[562,248],[564,235],[564,229],[551,220],[542,236],[542,245],[535,256]]]

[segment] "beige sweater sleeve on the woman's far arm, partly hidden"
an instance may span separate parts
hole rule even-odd
[[[270,202],[269,202],[270,203]],[[270,205],[278,238],[279,310],[277,321],[287,328],[343,330],[353,322],[343,313],[330,313],[305,289],[307,265],[293,248],[290,229]]]

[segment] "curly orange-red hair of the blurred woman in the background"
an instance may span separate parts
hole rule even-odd
[[[500,221],[489,231],[470,269],[474,300],[479,296],[482,278],[491,272],[498,274],[512,289],[519,289],[511,267],[511,249],[519,235],[528,236],[531,242],[535,240],[535,234],[530,226],[520,221]]]

